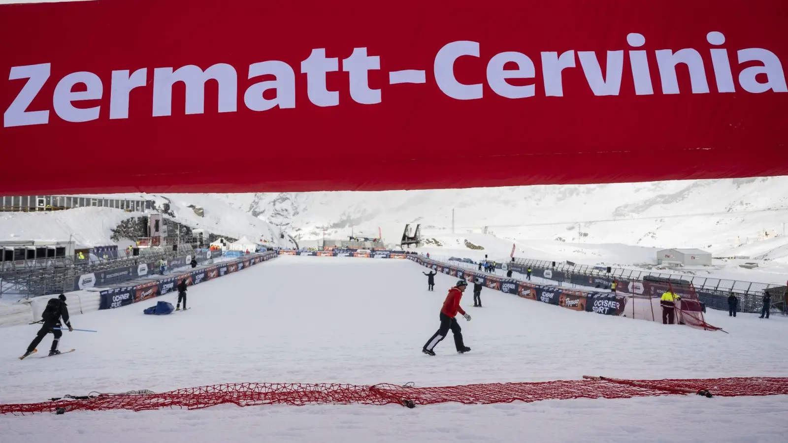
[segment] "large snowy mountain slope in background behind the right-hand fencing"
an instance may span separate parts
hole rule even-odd
[[[297,239],[377,234],[400,241],[406,223],[423,236],[495,233],[528,242],[704,248],[716,254],[788,256],[788,177],[390,192],[221,195]],[[779,240],[777,240],[779,238]],[[760,240],[768,240],[761,242]]]

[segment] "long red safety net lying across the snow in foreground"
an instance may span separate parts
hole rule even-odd
[[[788,378],[709,378],[693,380],[619,380],[588,378],[558,382],[486,383],[420,388],[397,385],[303,383],[239,383],[177,389],[141,395],[101,394],[86,400],[57,400],[35,404],[0,404],[0,414],[63,411],[146,411],[159,408],[209,408],[218,404],[402,404],[405,406],[457,402],[495,404],[513,401],[573,398],[631,398],[697,393],[715,396],[788,394]]]

